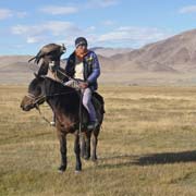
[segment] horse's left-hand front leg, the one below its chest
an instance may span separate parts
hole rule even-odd
[[[66,136],[63,134],[59,134],[60,140],[60,152],[61,152],[61,166],[59,167],[60,172],[64,172],[66,170]]]

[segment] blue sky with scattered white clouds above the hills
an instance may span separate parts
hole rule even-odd
[[[76,37],[89,47],[140,48],[196,28],[195,0],[0,0],[0,54],[35,54]]]

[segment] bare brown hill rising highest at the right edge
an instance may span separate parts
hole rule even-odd
[[[196,72],[196,29],[113,57],[122,70]]]

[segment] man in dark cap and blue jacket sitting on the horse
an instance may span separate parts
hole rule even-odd
[[[68,86],[81,87],[83,89],[83,105],[89,114],[88,130],[98,125],[96,111],[91,103],[91,95],[97,89],[97,78],[100,75],[99,61],[94,51],[87,49],[87,40],[84,37],[75,39],[75,51],[69,57],[65,73],[79,81],[69,81]]]

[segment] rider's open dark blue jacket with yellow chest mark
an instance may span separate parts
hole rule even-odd
[[[83,58],[83,64],[84,64],[84,81],[88,83],[89,87],[94,90],[97,89],[97,78],[100,75],[100,66],[99,61],[94,51],[88,51],[87,54]],[[74,77],[75,74],[75,52],[73,52],[66,62],[65,66],[65,73]]]

